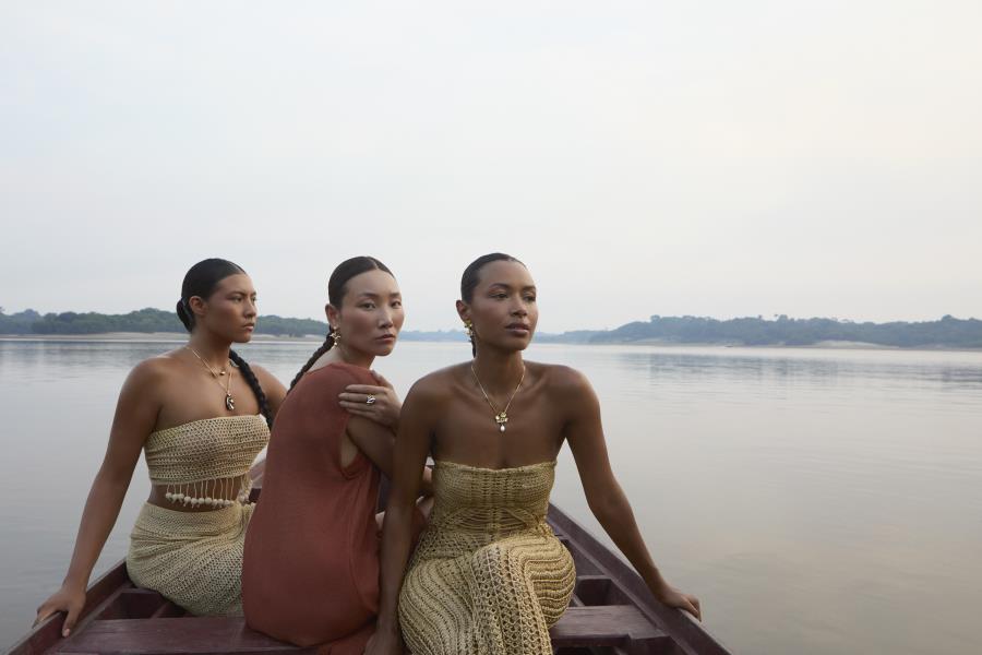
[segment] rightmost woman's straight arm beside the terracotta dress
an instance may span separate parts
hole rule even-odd
[[[419,471],[430,452],[431,421],[439,414],[436,398],[429,388],[427,379],[417,382],[403,405],[395,443],[393,485],[382,529],[379,620],[366,655],[402,653],[399,590],[411,546],[412,511],[419,497]]]

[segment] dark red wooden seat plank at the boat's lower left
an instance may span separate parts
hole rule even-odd
[[[95,621],[77,636],[67,639],[53,653],[133,653],[265,655],[314,653],[250,630],[242,618],[119,619]]]

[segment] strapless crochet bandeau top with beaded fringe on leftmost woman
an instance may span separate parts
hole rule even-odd
[[[144,443],[151,483],[184,505],[228,507],[246,502],[249,468],[270,442],[261,415],[192,420],[151,432]]]

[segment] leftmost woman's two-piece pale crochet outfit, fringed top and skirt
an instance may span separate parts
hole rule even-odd
[[[127,553],[134,584],[194,615],[242,615],[242,545],[253,508],[249,468],[268,440],[262,415],[194,420],[147,437],[151,481],[166,487],[176,504],[215,509],[144,503]]]

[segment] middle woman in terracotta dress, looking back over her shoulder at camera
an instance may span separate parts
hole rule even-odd
[[[242,600],[255,630],[360,654],[378,612],[375,508],[400,408],[370,367],[395,347],[404,312],[395,278],[373,258],[338,265],[327,293],[327,340],[294,380],[270,440]]]

